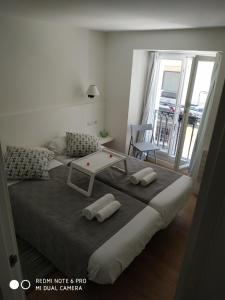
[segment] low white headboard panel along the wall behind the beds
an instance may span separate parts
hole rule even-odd
[[[67,130],[98,134],[104,128],[104,103],[0,115],[0,141],[5,145],[42,146]]]

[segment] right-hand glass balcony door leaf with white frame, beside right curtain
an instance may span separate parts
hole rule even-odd
[[[210,88],[214,57],[196,56],[180,117],[175,169],[188,168]]]

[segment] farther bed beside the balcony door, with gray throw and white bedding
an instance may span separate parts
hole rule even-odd
[[[69,165],[73,158],[60,155],[61,163]],[[157,210],[164,223],[164,228],[171,223],[176,214],[184,207],[192,189],[192,179],[155,164],[128,157],[128,175],[115,169],[107,169],[97,175],[98,180],[122,191]],[[152,167],[158,173],[158,180],[146,188],[134,186],[129,182],[129,175],[145,167]],[[167,180],[169,178],[169,180]],[[161,186],[164,188],[162,189]],[[154,191],[152,192],[152,188]],[[150,196],[149,196],[150,195]]]

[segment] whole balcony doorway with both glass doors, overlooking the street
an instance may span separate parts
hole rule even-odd
[[[159,55],[153,135],[159,162],[173,169],[190,165],[214,63],[215,56]]]

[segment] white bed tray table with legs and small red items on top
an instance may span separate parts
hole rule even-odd
[[[124,162],[124,169],[116,166],[116,164],[121,161]],[[94,184],[94,179],[96,174],[102,172],[103,170],[109,167],[117,168],[121,172],[127,174],[126,156],[104,148],[98,152],[84,156],[77,160],[73,160],[70,164],[67,184],[73,189],[75,189],[76,191],[80,192],[81,194],[89,197],[92,194],[93,184]],[[88,190],[84,190],[81,187],[71,182],[73,169],[76,169],[90,176]]]

